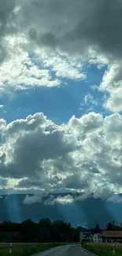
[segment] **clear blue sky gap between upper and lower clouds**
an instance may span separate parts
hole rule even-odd
[[[96,65],[91,65],[83,69],[83,72],[87,73],[87,80],[62,79],[59,87],[33,87],[24,91],[10,89],[9,93],[5,91],[0,98],[3,105],[0,109],[1,117],[9,123],[17,118],[25,118],[29,114],[43,112],[47,118],[61,124],[66,123],[72,115],[81,117],[90,109],[104,113],[104,93],[93,89],[92,85],[99,86],[105,69],[106,67],[98,69]],[[88,98],[87,102],[84,102],[87,95],[93,98]]]

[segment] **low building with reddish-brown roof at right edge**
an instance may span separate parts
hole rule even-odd
[[[102,233],[105,243],[122,242],[122,231],[105,231]]]

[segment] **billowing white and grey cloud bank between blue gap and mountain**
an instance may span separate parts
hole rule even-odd
[[[0,188],[39,198],[54,191],[108,198],[122,186],[121,131],[119,113],[103,118],[91,112],[61,125],[43,113],[0,120]]]

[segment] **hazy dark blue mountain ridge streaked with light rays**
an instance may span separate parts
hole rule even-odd
[[[60,194],[58,194],[60,195]],[[62,194],[61,194],[62,195]],[[66,194],[65,194],[66,195]],[[94,226],[99,223],[104,227],[108,221],[122,222],[122,202],[105,202],[101,198],[87,198],[86,201],[77,201],[72,204],[45,205],[36,202],[25,205],[23,200],[26,195],[3,195],[0,198],[0,221],[24,221],[31,218],[39,221],[42,217],[50,217],[52,221],[63,220],[71,222],[72,226]]]

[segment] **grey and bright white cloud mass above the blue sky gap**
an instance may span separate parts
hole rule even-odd
[[[121,0],[2,0],[0,10],[2,90],[59,86],[86,78],[83,64],[108,65],[104,107],[122,111]]]

